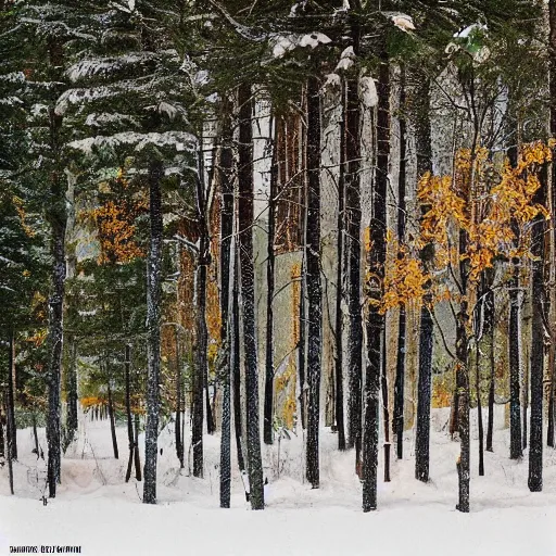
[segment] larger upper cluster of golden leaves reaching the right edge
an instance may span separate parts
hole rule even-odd
[[[539,214],[548,216],[533,198],[541,187],[539,172],[552,161],[552,146],[551,141],[525,144],[516,167],[505,160],[501,169],[489,160],[486,149],[475,154],[462,149],[454,179],[430,173],[420,179],[418,199],[426,213],[418,243],[420,248],[434,244],[437,268],[468,260],[469,279],[476,281],[497,256],[529,255],[526,225]],[[450,245],[451,226],[467,233],[464,253]]]

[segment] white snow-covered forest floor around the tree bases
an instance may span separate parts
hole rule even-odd
[[[126,428],[117,428],[121,456],[115,460],[109,420],[91,421],[90,416],[81,418],[79,438],[63,458],[56,498],[43,506],[46,463],[31,454],[31,429],[20,430],[15,496],[9,495],[8,466],[0,470],[0,555],[14,545],[53,544],[81,545],[81,554],[91,556],[555,556],[556,450],[544,452],[544,492],[531,494],[527,452],[521,462],[508,459],[502,413],[494,453],[485,453],[484,477],[478,476],[473,429],[471,513],[463,515],[455,510],[459,444],[450,438],[447,418],[447,409],[432,413],[428,484],[414,479],[413,431],[406,432],[404,459],[392,459],[390,483],[382,481],[380,459],[379,509],[371,514],[361,510],[354,453],[339,453],[329,429],[321,430],[319,490],[303,479],[303,439],[282,440],[279,459],[277,444],[263,446],[269,481],[264,511],[249,510],[235,457],[231,509],[218,507],[218,435],[205,435],[204,479],[191,477],[187,463],[180,471],[172,422],[160,437],[159,505],[141,504],[142,483],[124,480]],[[46,452],[43,429],[39,442]]]

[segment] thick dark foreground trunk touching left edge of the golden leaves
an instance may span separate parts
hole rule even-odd
[[[387,256],[387,188],[390,155],[390,67],[381,55],[378,71],[377,169],[369,224],[372,249],[368,254],[367,368],[365,378],[363,430],[363,511],[377,509],[377,467],[379,427],[379,386],[382,367],[384,315],[380,312]]]

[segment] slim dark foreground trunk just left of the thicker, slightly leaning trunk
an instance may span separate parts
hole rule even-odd
[[[239,315],[230,315],[230,285],[231,275],[231,238],[233,235],[233,151],[231,147],[230,102],[224,100],[222,149],[219,155],[218,174],[222,187],[222,217],[220,217],[220,314],[223,353],[223,404],[222,404],[222,434],[220,434],[220,507],[230,507],[231,494],[231,392],[230,377],[233,365],[232,326],[230,318],[239,319]],[[237,261],[235,261],[237,264]],[[240,412],[241,415],[241,412]]]

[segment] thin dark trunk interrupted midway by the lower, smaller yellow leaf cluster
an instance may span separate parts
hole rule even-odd
[[[406,134],[405,121],[405,66],[401,67],[400,79],[400,175],[397,178],[397,241],[401,245],[405,242],[406,203],[405,203],[405,180],[406,180]],[[400,256],[402,254],[400,253]],[[397,353],[395,365],[394,384],[394,418],[393,432],[396,439],[397,459],[404,457],[404,401],[405,401],[405,334],[406,314],[405,304],[400,305],[397,317]]]

